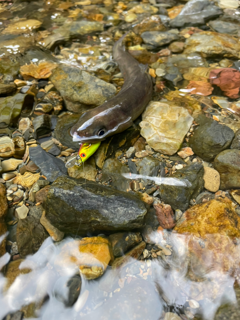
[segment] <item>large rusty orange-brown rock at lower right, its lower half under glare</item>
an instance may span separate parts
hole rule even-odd
[[[188,250],[198,265],[225,272],[240,265],[239,228],[240,217],[231,200],[219,197],[190,207],[174,231],[191,235]]]

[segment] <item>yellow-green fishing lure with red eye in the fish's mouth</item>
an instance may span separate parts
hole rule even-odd
[[[71,168],[75,164],[78,166],[81,166],[90,156],[94,154],[94,152],[97,150],[100,144],[101,144],[101,141],[79,143],[80,148],[79,148],[78,155],[69,159],[66,162],[65,167]]]

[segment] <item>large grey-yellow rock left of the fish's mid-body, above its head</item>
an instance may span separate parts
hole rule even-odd
[[[99,106],[117,92],[113,84],[77,68],[55,68],[50,79],[61,93],[67,109],[75,113]]]

